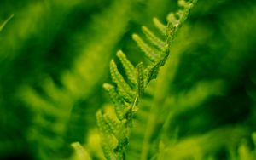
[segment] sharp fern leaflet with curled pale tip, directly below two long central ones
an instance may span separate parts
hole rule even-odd
[[[128,108],[125,106],[124,100],[122,100],[122,98],[116,92],[113,85],[104,83],[103,88],[108,91],[108,94],[110,95],[110,98],[113,101],[114,109],[119,120],[124,119],[124,115],[128,110]]]

